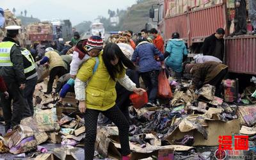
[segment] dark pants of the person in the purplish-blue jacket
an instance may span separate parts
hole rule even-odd
[[[158,90],[159,70],[141,73],[141,78],[147,87],[148,102],[155,103]]]

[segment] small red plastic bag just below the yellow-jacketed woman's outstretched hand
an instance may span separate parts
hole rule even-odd
[[[143,95],[132,93],[129,98],[132,101],[133,107],[136,109],[140,109],[142,106],[144,106],[148,102],[147,92],[144,92]]]

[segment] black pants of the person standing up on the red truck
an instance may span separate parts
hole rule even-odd
[[[236,4],[235,4],[236,6]],[[236,8],[235,15],[235,29],[236,33],[242,31],[246,33],[247,31],[247,23],[246,23],[246,1],[241,0],[239,8]]]

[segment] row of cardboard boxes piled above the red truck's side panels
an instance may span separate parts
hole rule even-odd
[[[223,0],[171,0],[166,11],[166,18],[220,3],[223,3]]]

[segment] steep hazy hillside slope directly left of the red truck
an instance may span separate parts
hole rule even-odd
[[[145,24],[148,22],[149,9],[152,4],[158,3],[157,0],[144,0],[141,3],[134,4],[127,10],[124,17],[120,17],[120,28],[122,30],[132,30],[139,32],[145,28]]]

